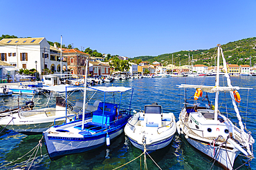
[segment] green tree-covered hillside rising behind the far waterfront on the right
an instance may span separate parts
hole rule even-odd
[[[250,60],[248,58],[250,57],[252,65],[256,63],[256,37],[230,42],[221,45],[221,47],[227,63],[249,65]],[[197,61],[194,61],[193,65],[203,64],[210,66],[214,65],[214,57],[217,56],[217,47],[210,48],[209,50],[180,51],[170,54],[161,54],[159,56],[138,56],[133,59],[141,59],[142,61],[149,61],[149,63],[158,61],[163,65],[168,65],[172,64],[172,54],[174,56],[174,65],[179,65],[180,61],[181,65],[188,65],[188,54],[190,54],[190,61],[192,60],[192,55],[193,59],[197,59]],[[243,60],[239,61],[239,59]]]

